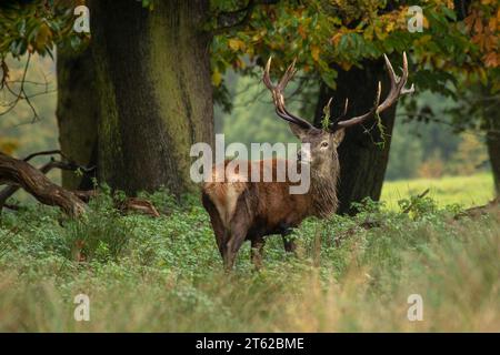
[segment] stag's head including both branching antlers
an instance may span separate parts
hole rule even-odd
[[[266,64],[262,81],[272,93],[272,100],[278,116],[289,122],[292,133],[301,141],[301,143],[309,143],[310,149],[308,151],[301,150],[298,159],[301,163],[310,164],[311,172],[321,175],[328,174],[332,171],[338,171],[340,166],[337,155],[337,148],[343,140],[344,130],[349,126],[363,123],[368,119],[391,106],[402,94],[414,91],[413,85],[411,85],[410,89],[404,88],[408,80],[407,54],[403,52],[403,68],[401,78],[396,75],[394,70],[386,54],[383,58],[386,60],[386,67],[391,82],[391,90],[386,100],[380,103],[381,83],[379,82],[374,104],[369,112],[350,119],[346,118],[349,104],[349,101],[346,100],[343,114],[340,118],[332,120],[327,129],[316,128],[307,120],[288,111],[284,104],[283,91],[287,88],[288,82],[296,73],[296,61],[288,67],[281,80],[274,85],[272,84],[269,75],[271,68],[271,58],[269,58]],[[330,106],[330,103],[331,99],[328,103],[328,108]]]

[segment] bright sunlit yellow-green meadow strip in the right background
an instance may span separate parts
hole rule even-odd
[[[440,206],[460,204],[468,207],[493,199],[493,178],[484,172],[471,176],[389,181],[383,184],[382,200],[389,209],[397,210],[399,200],[418,195],[427,189],[430,189],[429,196]]]

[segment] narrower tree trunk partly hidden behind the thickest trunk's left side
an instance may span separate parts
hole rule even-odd
[[[58,50],[59,144],[72,161],[97,165],[98,98],[90,49],[82,53]],[[92,189],[91,176],[62,171],[62,186],[70,190]]]

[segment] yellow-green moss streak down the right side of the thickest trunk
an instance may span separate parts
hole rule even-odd
[[[199,90],[200,87],[207,87],[202,81],[209,77],[198,75],[200,59],[192,53],[192,38],[197,33],[187,8],[188,4],[183,4],[179,11],[169,11],[164,7],[153,11],[149,23],[151,43],[148,71],[154,83],[153,95],[159,105],[164,134],[173,148],[170,153],[184,187],[192,190],[189,151],[191,144],[211,140],[203,126],[207,124],[203,119],[208,114],[207,98],[210,98],[211,92]],[[179,26],[172,28],[171,23]]]

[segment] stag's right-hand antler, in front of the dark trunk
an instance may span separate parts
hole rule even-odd
[[[351,126],[354,124],[359,124],[359,123],[363,122],[364,120],[371,118],[374,113],[380,113],[380,112],[384,111],[386,109],[390,108],[396,101],[398,101],[398,99],[401,95],[407,94],[407,93],[412,93],[414,91],[413,84],[411,85],[410,89],[404,88],[404,85],[407,84],[407,80],[408,80],[407,53],[403,52],[403,68],[402,68],[401,78],[396,75],[394,69],[392,68],[392,64],[386,54],[383,54],[383,59],[386,60],[386,67],[389,72],[389,78],[391,81],[391,90],[390,90],[389,94],[387,95],[386,100],[383,100],[383,102],[381,104],[379,104],[380,92],[381,92],[381,83],[379,81],[373,108],[369,112],[367,112],[362,115],[359,115],[359,116],[356,116],[356,118],[352,118],[352,119],[349,119],[346,121],[333,122],[330,125],[330,131],[336,131],[336,130],[339,130],[342,128],[348,128],[348,126]],[[344,114],[346,114],[346,111],[347,111],[347,101],[346,101]]]

